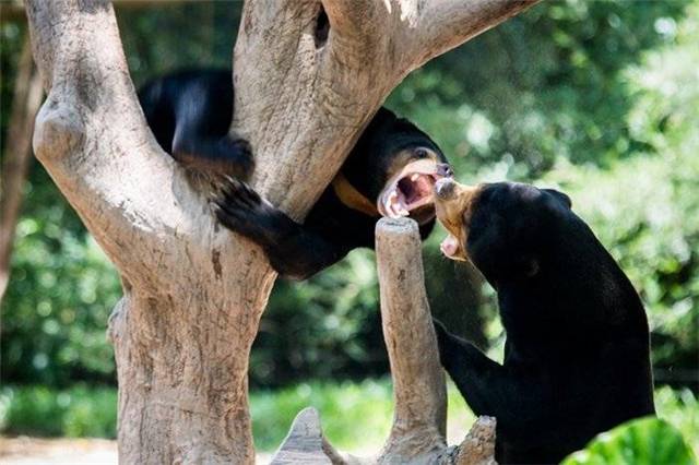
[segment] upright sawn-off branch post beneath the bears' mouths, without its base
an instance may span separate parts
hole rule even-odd
[[[395,413],[382,455],[393,461],[443,448],[447,390],[425,291],[417,224],[382,218],[376,227],[383,338]]]

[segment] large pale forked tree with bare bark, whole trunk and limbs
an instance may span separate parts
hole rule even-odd
[[[232,130],[252,144],[253,187],[303,218],[411,70],[531,3],[246,2]],[[27,16],[48,93],[35,153],[122,276],[109,321],[121,463],[252,462],[248,358],[273,271],[157,146],[111,5],[33,0]]]

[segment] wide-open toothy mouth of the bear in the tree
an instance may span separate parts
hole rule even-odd
[[[435,182],[443,178],[438,174],[437,163],[420,159],[408,163],[387,183],[379,195],[377,207],[382,216],[399,218],[410,216],[411,212],[434,203]],[[434,217],[434,215],[433,215]]]

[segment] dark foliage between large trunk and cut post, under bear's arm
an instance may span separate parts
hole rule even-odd
[[[279,386],[384,373],[376,282],[368,251],[353,252],[308,282],[279,281],[252,348],[253,382]]]

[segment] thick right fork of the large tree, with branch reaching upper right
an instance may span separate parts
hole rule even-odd
[[[303,218],[407,72],[535,1],[246,3],[234,60],[233,130],[269,167],[256,172],[253,184]],[[319,44],[323,8],[330,31]],[[297,135],[281,136],[289,132]]]

